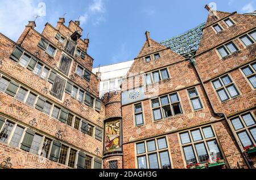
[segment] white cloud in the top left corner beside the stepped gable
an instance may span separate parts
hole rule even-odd
[[[35,15],[44,16],[45,10],[45,4],[38,0],[1,0],[0,32],[16,41],[28,20],[34,20]]]

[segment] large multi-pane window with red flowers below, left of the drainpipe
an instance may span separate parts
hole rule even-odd
[[[180,140],[187,165],[204,164],[210,156],[223,158],[211,126],[182,132]]]

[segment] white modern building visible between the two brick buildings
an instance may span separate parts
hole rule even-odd
[[[92,72],[94,74],[100,73],[101,77],[100,98],[105,93],[121,90],[122,79],[126,76],[133,62],[134,60],[131,60],[93,68]]]

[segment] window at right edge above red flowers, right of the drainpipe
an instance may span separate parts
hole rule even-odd
[[[230,121],[243,147],[256,145],[256,123],[253,113],[240,114]]]

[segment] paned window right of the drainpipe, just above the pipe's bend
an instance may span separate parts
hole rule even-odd
[[[229,75],[222,76],[221,78],[214,80],[212,83],[221,102],[240,95]]]

